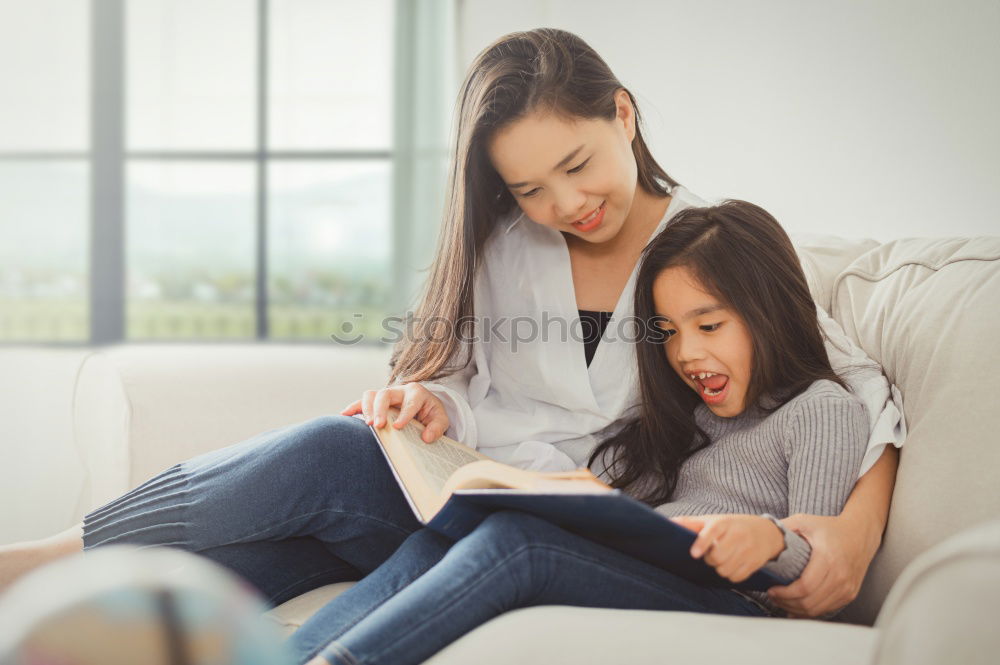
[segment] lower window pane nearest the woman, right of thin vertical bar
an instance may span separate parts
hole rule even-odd
[[[272,337],[382,336],[392,251],[390,174],[386,161],[271,163]]]

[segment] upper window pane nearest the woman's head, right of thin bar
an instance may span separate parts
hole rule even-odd
[[[272,0],[268,142],[388,149],[393,2]]]

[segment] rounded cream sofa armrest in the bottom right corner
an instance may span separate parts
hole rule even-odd
[[[998,594],[1000,520],[994,520],[948,538],[907,566],[875,622],[872,662],[996,662]]]

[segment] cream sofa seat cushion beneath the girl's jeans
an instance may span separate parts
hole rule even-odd
[[[291,635],[353,584],[313,589],[264,616],[285,636]],[[872,628],[823,621],[547,605],[502,614],[442,649],[426,665],[842,665],[867,662],[875,636]]]

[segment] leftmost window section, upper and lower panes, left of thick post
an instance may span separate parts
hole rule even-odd
[[[87,20],[0,0],[0,341],[88,336]]]

